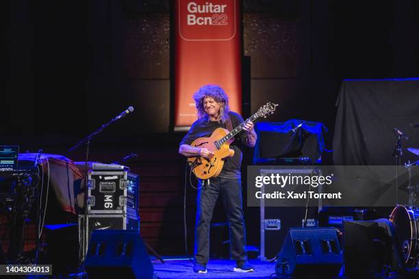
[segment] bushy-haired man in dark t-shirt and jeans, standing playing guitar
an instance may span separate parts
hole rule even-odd
[[[186,157],[201,157],[210,163],[214,151],[205,146],[191,146],[195,139],[209,137],[217,128],[232,130],[244,120],[240,114],[229,110],[227,94],[218,85],[205,85],[195,92],[194,101],[198,114],[189,132],[183,137],[179,153]],[[210,254],[210,224],[212,213],[218,196],[221,196],[227,213],[230,230],[231,256],[236,260],[233,271],[249,272],[254,268],[247,262],[245,250],[246,233],[242,209],[242,185],[240,166],[242,163],[243,145],[253,147],[256,143],[256,133],[250,120],[240,128],[243,131],[233,137],[229,146],[230,157],[223,158],[222,170],[216,176],[201,181],[197,195],[194,271],[207,272],[207,262]],[[227,131],[228,133],[228,131]],[[201,161],[200,161],[201,162]]]

